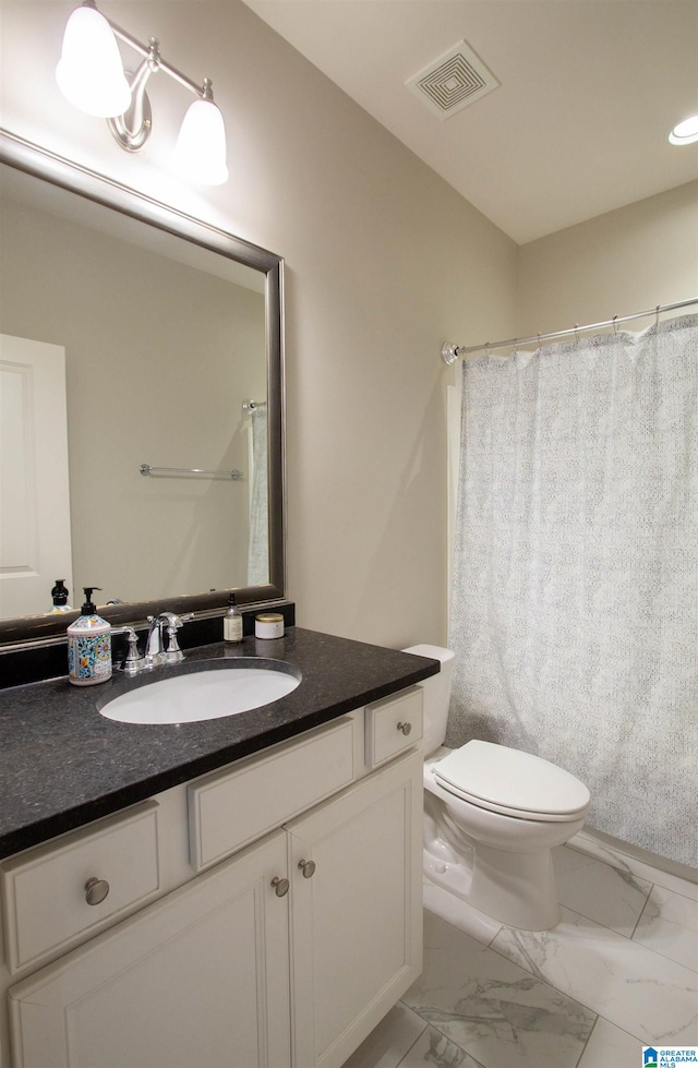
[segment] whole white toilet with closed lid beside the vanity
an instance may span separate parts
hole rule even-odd
[[[454,655],[424,689],[424,873],[480,912],[524,931],[559,920],[551,850],[581,830],[590,793],[549,760],[492,742],[444,747]]]

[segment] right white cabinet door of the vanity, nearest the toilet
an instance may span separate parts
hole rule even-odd
[[[344,1064],[421,972],[422,766],[401,757],[287,826],[296,1068]]]

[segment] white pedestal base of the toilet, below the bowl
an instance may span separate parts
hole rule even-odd
[[[424,850],[424,875],[479,912],[520,931],[549,931],[559,922],[550,850],[505,853],[478,844],[477,852],[446,857]]]

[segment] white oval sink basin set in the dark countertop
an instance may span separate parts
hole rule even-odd
[[[99,709],[120,723],[195,723],[237,716],[290,694],[300,683],[289,664],[251,667],[230,660],[216,668],[148,682],[120,694]]]

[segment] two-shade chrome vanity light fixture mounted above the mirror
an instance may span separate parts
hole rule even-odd
[[[134,74],[123,70],[117,37],[143,56]],[[228,180],[226,131],[214,104],[210,81],[202,85],[167,63],[156,37],[147,45],[84,0],[68,20],[56,80],[63,96],[81,111],[107,120],[112,136],[127,152],[139,152],[151,135],[153,117],[145,92],[148,79],[164,71],[193,93],[174,152],[178,168],[191,180],[220,185]]]

